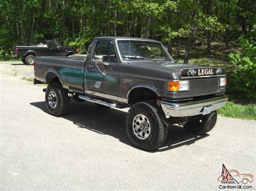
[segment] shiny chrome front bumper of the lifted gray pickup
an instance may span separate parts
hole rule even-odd
[[[204,107],[212,105],[212,111],[223,107],[227,103],[226,95],[206,100],[174,103],[169,100],[161,100],[161,108],[165,115],[172,117],[188,117],[203,114]]]

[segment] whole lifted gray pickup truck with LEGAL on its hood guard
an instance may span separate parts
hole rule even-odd
[[[165,142],[169,124],[207,133],[227,102],[224,68],[177,63],[150,39],[98,37],[86,55],[36,57],[35,77],[49,84],[45,103],[54,116],[65,114],[72,99],[99,109],[130,107],[127,136],[144,150]]]

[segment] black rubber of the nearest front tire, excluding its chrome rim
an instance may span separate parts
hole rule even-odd
[[[139,112],[136,112],[137,109],[143,109],[150,115],[150,119],[154,125],[153,129],[154,132],[151,130],[151,135],[145,140],[138,139],[135,135],[133,135],[132,132],[132,121],[133,117],[139,114]],[[135,112],[135,114],[133,114]],[[156,131],[157,130],[157,131]],[[160,147],[166,137],[167,137],[167,132],[168,132],[168,126],[166,126],[162,119],[161,115],[159,115],[159,111],[155,108],[155,105],[153,103],[146,103],[146,102],[138,102],[132,105],[130,108],[127,118],[126,118],[126,132],[128,137],[130,138],[131,142],[136,145],[139,148],[142,148],[143,150],[155,150],[156,148]]]

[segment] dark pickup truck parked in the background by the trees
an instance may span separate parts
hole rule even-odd
[[[45,45],[16,46],[12,58],[22,56],[25,65],[33,65],[36,56],[69,56],[77,52],[77,48],[63,47],[56,40],[48,40]]]

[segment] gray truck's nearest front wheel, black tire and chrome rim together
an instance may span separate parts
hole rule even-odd
[[[131,142],[143,150],[154,150],[166,140],[168,125],[158,105],[138,102],[132,105],[126,118],[126,132]]]

